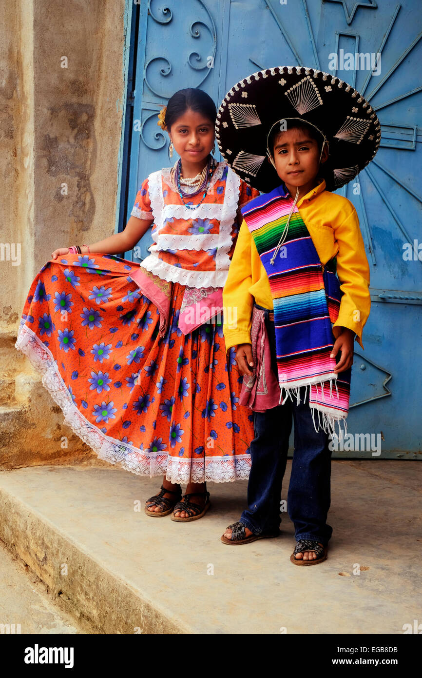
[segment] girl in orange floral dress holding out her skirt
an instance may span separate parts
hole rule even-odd
[[[158,124],[180,160],[142,183],[122,233],[52,253],[16,342],[99,458],[164,475],[145,511],[176,521],[205,514],[207,480],[247,478],[250,468],[253,425],[236,404],[242,377],[233,350],[226,361],[221,290],[238,210],[259,193],[213,159],[215,118],[201,90],[171,97]],[[151,225],[142,264],[115,256]]]

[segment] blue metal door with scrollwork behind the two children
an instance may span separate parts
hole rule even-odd
[[[334,453],[339,457],[422,458],[421,29],[420,0],[140,5],[125,222],[142,180],[171,164],[156,115],[177,89],[200,87],[218,107],[233,83],[253,71],[309,66],[350,82],[379,116],[375,160],[339,191],[358,211],[372,298],[365,350],[356,344],[347,420],[360,445]],[[142,260],[149,244],[148,233],[125,256]],[[381,454],[358,434],[381,440]]]

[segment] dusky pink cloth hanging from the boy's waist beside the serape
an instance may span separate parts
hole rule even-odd
[[[270,341],[265,323],[265,312],[253,307],[251,343],[253,375],[245,374],[240,390],[240,405],[253,412],[265,412],[280,402],[280,386],[271,367]]]

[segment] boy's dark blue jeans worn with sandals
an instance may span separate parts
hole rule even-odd
[[[258,306],[258,308],[261,308]],[[276,336],[274,322],[266,326],[270,339],[272,369],[276,371]],[[331,494],[331,450],[329,435],[322,429],[316,433],[308,401],[303,402],[305,389],[300,389],[301,402],[288,399],[284,405],[266,412],[253,412],[255,438],[251,442],[251,472],[247,502],[240,521],[254,534],[277,531],[280,526],[280,494],[286,470],[292,421],[295,423],[295,449],[291,468],[287,509],[295,525],[295,539],[329,542],[333,528],[326,523]]]

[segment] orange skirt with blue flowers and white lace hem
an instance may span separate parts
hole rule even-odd
[[[43,374],[65,422],[98,456],[171,483],[249,477],[251,410],[226,356],[221,323],[177,326],[184,285],[173,283],[169,327],[110,254],[67,254],[34,279],[16,348]]]

